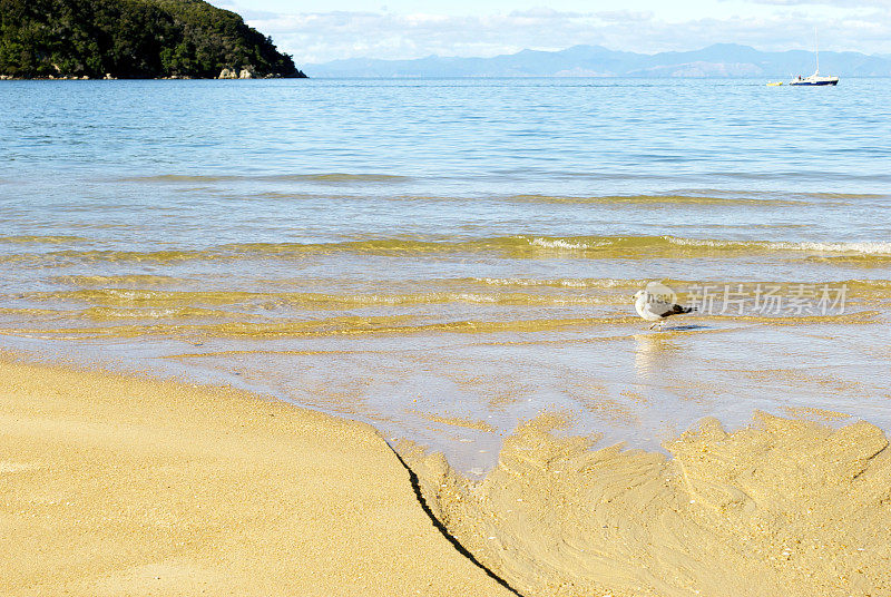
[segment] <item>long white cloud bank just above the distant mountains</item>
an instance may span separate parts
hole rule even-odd
[[[541,8],[487,16],[331,11],[248,12],[245,17],[253,27],[272,35],[281,49],[293,53],[298,65],[355,57],[488,57],[579,43],[638,52],[691,50],[718,42],[762,50],[810,50],[814,26],[820,27],[822,49],[891,52],[891,8],[887,3],[884,8],[825,12],[809,10],[802,0],[756,1],[784,6],[756,18],[684,22],[666,22],[645,11],[560,12]],[[822,0],[842,1],[862,4],[870,0]]]

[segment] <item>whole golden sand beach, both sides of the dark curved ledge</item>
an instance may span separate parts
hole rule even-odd
[[[4,595],[877,595],[891,450],[863,421],[714,419],[670,456],[542,414],[472,481],[246,391],[0,353]]]

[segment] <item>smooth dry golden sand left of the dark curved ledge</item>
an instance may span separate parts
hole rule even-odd
[[[368,425],[9,361],[0,380],[0,595],[509,595]]]

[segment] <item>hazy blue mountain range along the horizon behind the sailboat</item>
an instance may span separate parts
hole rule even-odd
[[[492,58],[429,56],[415,60],[352,58],[306,65],[310,77],[640,77],[786,78],[814,71],[813,52],[763,52],[748,46],[716,43],[702,50],[656,55],[600,46],[561,51],[522,50]],[[820,70],[841,77],[891,77],[891,57],[860,52],[820,52]]]

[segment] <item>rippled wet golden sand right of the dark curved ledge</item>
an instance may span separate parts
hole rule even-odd
[[[891,595],[891,451],[875,427],[758,415],[667,444],[673,458],[509,438],[469,481],[403,447],[434,513],[526,597]]]

